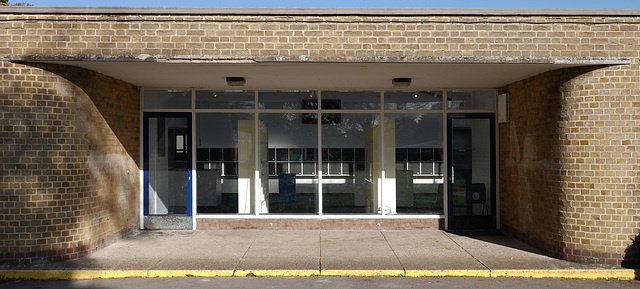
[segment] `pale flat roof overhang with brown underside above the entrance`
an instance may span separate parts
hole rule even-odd
[[[229,88],[226,77],[244,77],[241,89],[394,89],[393,78],[411,78],[407,89],[498,88],[560,68],[624,65],[622,58],[422,58],[330,62],[159,56],[20,56],[20,63],[56,63],[93,70],[145,88]],[[367,60],[367,59],[365,59]],[[239,87],[235,87],[239,88]]]

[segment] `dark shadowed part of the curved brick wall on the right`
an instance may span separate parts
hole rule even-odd
[[[599,81],[599,75],[608,70],[598,70],[607,67],[557,69],[498,90],[509,93],[510,109],[509,122],[499,128],[501,229],[554,258],[579,263],[614,261],[603,258],[602,252],[570,249],[566,240],[578,232],[567,230],[570,226],[564,213],[574,210],[567,198],[581,194],[570,187],[571,172],[565,168],[566,163],[576,161],[567,152],[582,149],[567,141],[570,131],[580,126],[573,105],[578,95],[591,93],[582,86]]]

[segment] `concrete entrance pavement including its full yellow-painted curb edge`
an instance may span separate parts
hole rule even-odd
[[[31,279],[254,275],[635,278],[503,235],[438,230],[142,231],[78,260],[0,271]]]

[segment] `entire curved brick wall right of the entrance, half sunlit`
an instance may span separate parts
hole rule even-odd
[[[640,227],[638,66],[557,70],[502,89],[501,221],[552,256],[619,265]]]

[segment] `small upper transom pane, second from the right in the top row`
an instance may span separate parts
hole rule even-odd
[[[385,91],[389,110],[442,110],[442,91]]]

